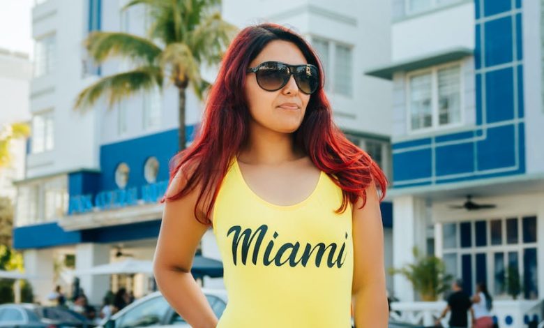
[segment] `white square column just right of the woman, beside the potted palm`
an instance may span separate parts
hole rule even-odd
[[[426,253],[425,200],[411,195],[393,200],[393,267],[399,269],[414,262],[412,248]],[[415,301],[410,281],[400,274],[393,277],[395,297],[400,301]]]

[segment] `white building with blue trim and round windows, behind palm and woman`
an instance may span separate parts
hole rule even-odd
[[[47,0],[33,9],[37,57],[31,112],[45,128],[43,135],[33,136],[27,178],[18,182],[14,237],[15,247],[24,251],[27,272],[40,276],[33,281],[40,300],[54,283],[71,283],[68,271],[55,272],[54,267],[75,262],[76,269],[86,269],[127,255],[153,258],[163,209],[156,200],[165,190],[168,160],[177,151],[176,89],[138,95],[111,109],[100,103],[91,111],[73,110],[84,87],[130,67],[123,61],[93,66],[82,47],[93,30],[144,35],[149,24],[144,8],[121,13],[124,3]],[[342,6],[328,1],[261,3],[271,6],[224,1],[222,13],[240,27],[267,20],[289,24],[306,36],[324,61],[335,120],[389,171],[391,84],[363,72],[389,57],[390,5],[347,0]],[[202,104],[190,92],[187,96],[190,135]],[[383,210],[391,244],[391,203]],[[202,254],[219,256],[211,230],[202,240]],[[109,288],[126,285],[139,297],[153,288],[153,281],[141,274],[82,276],[80,285],[91,303],[98,304]]]

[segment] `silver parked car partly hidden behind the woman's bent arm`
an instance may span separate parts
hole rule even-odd
[[[220,318],[227,306],[227,292],[206,288],[203,288],[202,292],[208,299],[213,313]],[[160,292],[153,292],[115,313],[110,320],[102,322],[99,328],[158,328],[173,325],[190,328],[190,325],[169,306]]]

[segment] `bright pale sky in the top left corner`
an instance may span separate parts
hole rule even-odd
[[[34,0],[0,0],[0,48],[32,57],[31,10]]]

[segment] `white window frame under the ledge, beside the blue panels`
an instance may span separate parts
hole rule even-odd
[[[459,66],[459,110],[460,120],[455,123],[448,123],[444,125],[439,124],[439,94],[438,94],[438,71],[444,68],[450,68],[453,66]],[[431,115],[432,124],[426,128],[418,128],[414,130],[411,125],[411,77],[416,75],[431,75]],[[432,131],[448,130],[451,128],[460,128],[465,124],[465,111],[464,111],[464,77],[463,77],[463,61],[451,61],[446,64],[432,66],[428,68],[421,68],[419,70],[411,70],[405,75],[405,108],[406,108],[406,129],[409,135],[416,135],[420,133],[429,133]]]

